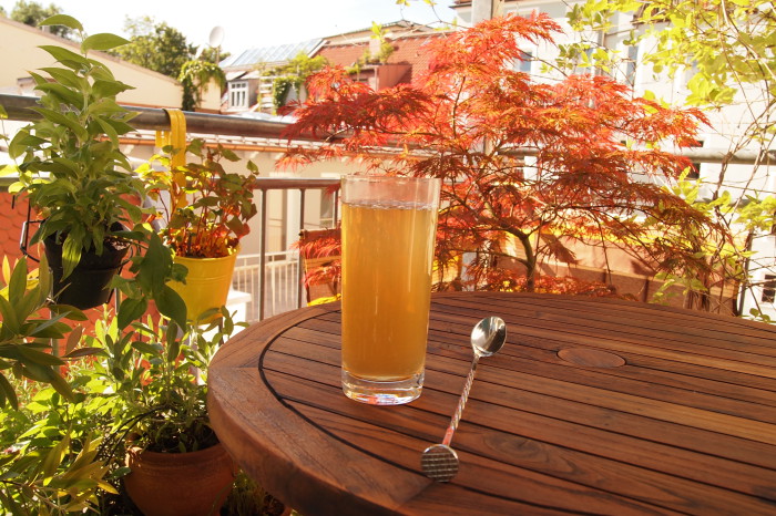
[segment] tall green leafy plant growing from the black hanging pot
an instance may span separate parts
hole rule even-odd
[[[133,246],[129,279],[114,277],[127,297],[122,322],[140,317],[149,299],[159,310],[185,322],[185,308],[166,287],[176,275],[169,250],[155,241],[154,229],[144,224],[152,210],[140,207],[146,185],[130,166],[119,137],[133,127],[133,112],[116,103],[116,95],[132,86],[115,80],[110,69],[88,56],[92,50],[110,50],[126,43],[113,34],[86,37],[81,23],[68,16],[51,17],[42,24],[67,25],[81,35],[81,53],[63,47],[42,47],[57,66],[33,73],[41,92],[35,111],[41,120],[18,132],[9,154],[21,158],[19,180],[9,192],[25,194],[43,217],[31,242],[53,237],[62,245],[62,270],[67,278],[83,254],[102,255],[108,246]],[[153,259],[144,260],[145,254]],[[180,275],[180,272],[178,272]]]

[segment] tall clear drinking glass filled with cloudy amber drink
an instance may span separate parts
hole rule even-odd
[[[376,405],[420,395],[440,179],[345,176],[343,391]]]

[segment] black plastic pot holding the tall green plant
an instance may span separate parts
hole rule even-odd
[[[102,255],[93,249],[81,255],[75,269],[62,279],[62,245],[50,235],[43,240],[45,257],[53,276],[53,298],[59,305],[71,305],[81,310],[106,303],[113,293],[105,288],[113,276],[121,271],[124,258],[130,250],[126,242],[105,240]]]

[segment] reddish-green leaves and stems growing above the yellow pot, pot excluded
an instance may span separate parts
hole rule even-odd
[[[202,140],[192,141],[186,152],[200,162],[171,169],[170,158],[157,155],[137,169],[149,182],[150,197],[162,207],[166,226],[160,234],[176,256],[228,256],[256,215],[253,184],[258,168],[248,162],[247,174],[226,172],[222,161],[237,162],[237,155],[221,144],[208,147]],[[163,169],[155,171],[153,162]]]

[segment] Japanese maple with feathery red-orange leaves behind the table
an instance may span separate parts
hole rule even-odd
[[[690,165],[661,146],[693,144],[704,116],[633,97],[605,76],[539,82],[513,69],[521,42],[552,43],[559,30],[544,14],[484,21],[430,43],[432,63],[412,84],[380,91],[328,68],[286,133],[323,143],[289,148],[280,163],[345,157],[369,172],[441,177],[439,262],[476,251],[463,280],[477,288],[589,289],[538,278],[542,260],[575,264],[574,241],[718,281],[698,242],[727,239],[724,229],[653,180]],[[400,152],[387,158],[386,147]]]

